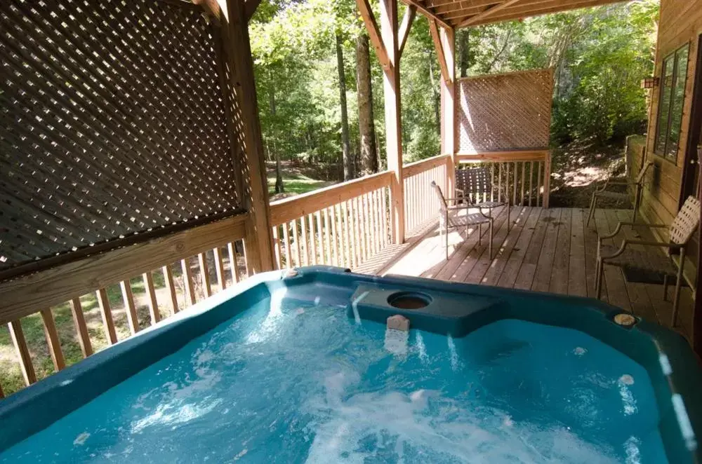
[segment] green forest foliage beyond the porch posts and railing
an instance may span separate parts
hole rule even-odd
[[[400,15],[404,6],[401,7]],[[586,8],[456,32],[463,76],[553,67],[552,144],[616,142],[645,130],[640,81],[654,66],[658,1]],[[359,156],[353,0],[263,0],[251,22],[260,120],[267,156],[342,162],[343,117],[336,38],[343,54],[350,154]],[[371,47],[378,157],[384,154],[383,75]],[[439,65],[428,22],[418,15],[401,62],[405,161],[439,153]],[[359,161],[356,161],[358,165]]]

